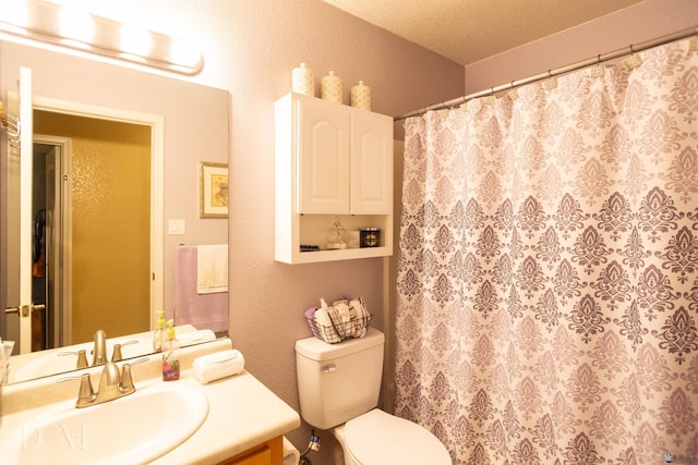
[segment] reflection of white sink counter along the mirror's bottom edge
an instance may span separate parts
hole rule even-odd
[[[131,344],[123,345],[121,347],[121,354],[124,359],[140,357],[153,353],[153,341],[149,339],[117,338],[107,341],[108,357],[111,357],[111,354],[113,354],[115,344],[125,344],[127,342],[131,342]],[[12,377],[11,381],[23,381],[65,371],[72,371],[75,369],[77,355],[59,356],[58,354],[65,352],[77,352],[83,348],[85,350],[87,355],[87,363],[92,363],[93,347],[94,343],[84,342],[82,344],[75,344],[60,351],[52,351],[48,354],[41,354],[36,359],[19,367],[16,369],[16,372],[13,374],[12,371],[10,371]]]

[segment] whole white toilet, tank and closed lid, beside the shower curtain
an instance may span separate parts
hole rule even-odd
[[[376,408],[384,344],[374,328],[338,344],[296,341],[301,416],[335,437],[341,446],[336,465],[450,465],[448,451],[429,430]]]

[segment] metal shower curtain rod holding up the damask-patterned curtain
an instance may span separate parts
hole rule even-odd
[[[603,54],[599,54],[597,57],[593,58],[589,58],[587,60],[582,60],[582,61],[578,61],[576,63],[571,63],[571,64],[567,64],[565,66],[562,68],[556,68],[554,70],[549,70],[545,73],[540,73],[537,74],[534,76],[531,77],[527,77],[524,79],[515,79],[512,81],[508,84],[502,84],[500,86],[496,87],[492,87],[490,89],[484,89],[484,90],[480,90],[473,94],[469,94],[462,97],[457,97],[453,100],[448,100],[448,101],[444,101],[442,103],[435,103],[432,105],[430,107],[425,107],[419,110],[413,110],[410,111],[408,113],[404,113],[400,114],[398,117],[395,117],[395,121],[400,121],[400,120],[406,120],[408,118],[411,117],[419,117],[421,114],[426,113],[428,111],[432,111],[432,110],[443,110],[443,109],[447,109],[447,108],[454,108],[456,106],[462,105],[465,102],[467,102],[468,100],[472,100],[473,98],[479,98],[479,97],[486,97],[490,95],[493,95],[495,93],[502,91],[502,90],[508,90],[512,89],[514,87],[519,87],[522,86],[525,84],[531,84],[534,83],[537,81],[543,81],[545,78],[550,78],[553,76],[558,76],[561,74],[565,74],[565,73],[569,73],[571,71],[577,71],[580,70],[582,68],[587,68],[587,66],[591,66],[594,64],[599,64],[599,63],[603,63],[604,61],[610,61],[610,60],[615,60],[616,58],[621,58],[624,57],[626,54],[633,54],[642,50],[647,50],[648,48],[652,48],[652,47],[657,47],[657,46],[661,46],[664,44],[669,44],[672,42],[674,40],[681,40],[681,39],[685,39],[686,37],[690,37],[693,35],[698,34],[698,26],[696,27],[691,27],[688,29],[684,29],[684,30],[679,30],[676,32],[674,34],[669,34],[666,36],[662,36],[662,37],[658,37],[655,39],[651,39],[651,40],[647,40],[640,44],[636,44],[636,45],[630,45],[629,47],[624,47],[622,49],[615,50],[615,51],[611,51],[609,53],[603,53]]]

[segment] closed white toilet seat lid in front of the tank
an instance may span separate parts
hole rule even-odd
[[[425,428],[378,408],[345,425],[346,446],[361,465],[450,465],[448,451]]]

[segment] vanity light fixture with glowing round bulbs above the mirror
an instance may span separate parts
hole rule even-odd
[[[204,65],[201,51],[182,38],[43,0],[1,3],[0,34],[3,35],[180,74],[196,74]]]

